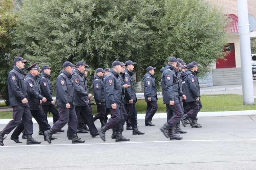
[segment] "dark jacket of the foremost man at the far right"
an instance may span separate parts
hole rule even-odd
[[[182,74],[182,80],[183,92],[187,96],[186,102],[196,101],[196,98],[200,97],[200,90],[193,71],[186,70]]]

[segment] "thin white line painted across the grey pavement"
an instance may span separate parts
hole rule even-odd
[[[99,144],[32,144],[19,146],[0,146],[6,147],[33,147],[33,146],[79,146],[79,145],[100,145],[100,144],[139,144],[139,143],[161,143],[161,142],[214,142],[214,141],[256,141],[256,139],[216,139],[216,140],[172,140],[172,141],[148,141],[148,142],[115,142],[115,143],[99,143]]]

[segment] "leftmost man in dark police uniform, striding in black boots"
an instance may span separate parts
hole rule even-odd
[[[31,112],[28,106],[26,86],[25,86],[25,71],[24,65],[27,61],[22,57],[15,57],[13,60],[14,67],[8,74],[8,93],[10,105],[12,106],[13,119],[5,126],[0,132],[0,145],[3,146],[3,140],[5,134],[9,134],[20,123],[25,126],[25,134],[27,135],[27,144],[41,144],[32,138],[33,134],[33,122]],[[11,139],[20,143],[19,139]]]

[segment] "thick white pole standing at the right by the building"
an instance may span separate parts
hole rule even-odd
[[[254,104],[247,0],[237,0],[244,105]]]

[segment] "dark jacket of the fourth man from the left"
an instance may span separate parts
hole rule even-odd
[[[56,81],[56,102],[58,107],[66,107],[70,104],[70,108],[75,107],[75,92],[72,75],[63,70],[57,77]]]

